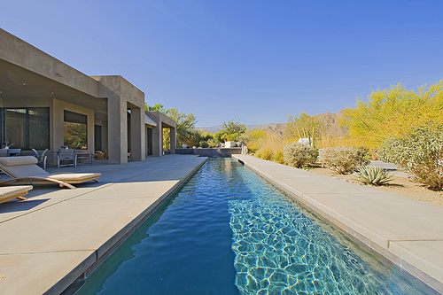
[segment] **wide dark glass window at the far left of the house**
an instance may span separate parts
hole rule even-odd
[[[50,108],[2,109],[2,143],[22,150],[50,147]]]

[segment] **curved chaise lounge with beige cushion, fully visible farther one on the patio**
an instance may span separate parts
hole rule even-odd
[[[100,173],[49,174],[36,164],[37,159],[34,156],[0,158],[0,170],[11,177],[11,179],[0,182],[0,185],[9,182],[30,184],[55,182],[60,187],[66,186],[69,189],[75,189],[71,183],[98,182],[97,178],[101,175]]]

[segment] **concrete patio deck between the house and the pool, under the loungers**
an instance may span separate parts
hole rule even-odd
[[[0,204],[0,294],[59,294],[89,275],[206,159],[165,155],[125,165],[49,168],[102,175],[75,190],[35,185],[26,201]]]

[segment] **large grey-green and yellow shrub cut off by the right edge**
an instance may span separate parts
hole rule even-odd
[[[443,187],[443,126],[427,123],[387,139],[379,155],[432,189]]]

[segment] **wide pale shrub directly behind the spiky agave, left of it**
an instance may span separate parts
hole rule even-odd
[[[340,175],[351,173],[357,167],[366,164],[361,151],[347,146],[323,149],[320,151],[319,160],[324,167],[335,170]]]

